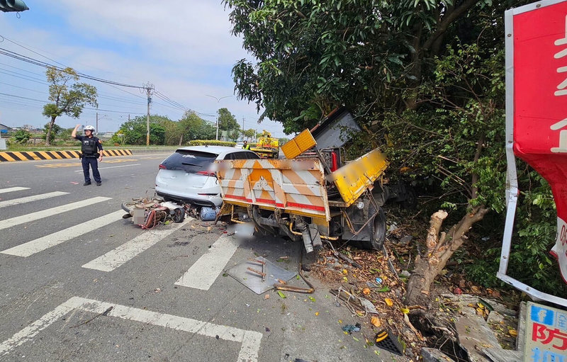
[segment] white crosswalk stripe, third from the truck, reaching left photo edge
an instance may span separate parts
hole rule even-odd
[[[122,220],[122,215],[124,215],[124,211],[120,210],[115,213],[97,217],[96,219],[83,222],[82,224],[68,227],[60,232],[55,232],[53,234],[46,235],[45,237],[40,237],[39,239],[18,245],[17,247],[0,251],[0,254],[23,256],[26,258],[45,249],[49,249],[50,247],[55,247],[55,245],[59,245],[62,242],[67,242],[67,240],[73,239],[74,237],[99,229],[99,227]]]

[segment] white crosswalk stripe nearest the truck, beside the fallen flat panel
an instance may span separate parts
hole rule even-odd
[[[238,248],[237,240],[223,234],[195,264],[184,273],[175,285],[208,290]]]

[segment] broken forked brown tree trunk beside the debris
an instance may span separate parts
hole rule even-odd
[[[447,218],[447,212],[439,210],[431,216],[430,230],[426,239],[427,251],[423,253],[422,258],[420,256],[415,258],[415,268],[406,287],[406,305],[418,305],[424,302],[435,277],[443,270],[453,253],[466,241],[466,232],[475,222],[482,220],[488,210],[483,205],[473,208],[453,225],[449,232],[441,234],[439,231],[443,220]]]

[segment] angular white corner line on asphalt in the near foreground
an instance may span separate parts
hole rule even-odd
[[[28,327],[25,327],[20,332],[14,334],[10,339],[2,342],[2,344],[0,344],[0,356],[8,354],[16,347],[26,343],[26,341],[30,341],[39,332],[43,331],[43,329],[50,327],[51,324],[57,322],[72,310],[83,310],[85,312],[91,312],[98,315],[106,312],[106,310],[110,307],[112,307],[112,310],[108,312],[109,317],[118,317],[135,322],[176,329],[182,332],[200,334],[201,336],[241,343],[242,345],[240,347],[240,352],[238,353],[237,361],[258,361],[260,341],[262,340],[262,333],[260,332],[202,322],[196,319],[152,312],[150,310],[142,310],[127,307],[125,305],[116,305],[81,297],[70,298],[56,307],[55,310],[48,312]],[[219,353],[222,353],[222,349],[217,350]],[[219,355],[219,358],[220,357],[221,356]]]

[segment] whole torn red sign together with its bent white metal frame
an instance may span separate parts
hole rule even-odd
[[[506,275],[518,197],[515,157],[549,182],[557,207],[556,256],[567,283],[567,1],[544,0],[505,13],[507,215],[498,278],[534,298],[567,307]]]

